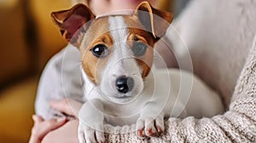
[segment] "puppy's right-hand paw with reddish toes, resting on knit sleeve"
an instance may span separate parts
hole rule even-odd
[[[137,119],[136,133],[140,138],[157,137],[165,130],[163,117],[140,117]]]

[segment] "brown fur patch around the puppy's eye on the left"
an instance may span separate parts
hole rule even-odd
[[[82,54],[82,66],[84,72],[93,83],[99,83],[102,79],[102,68],[108,62],[108,56],[97,58],[91,53],[97,44],[104,44],[108,48],[108,54],[111,54],[113,49],[113,40],[108,31],[108,17],[104,17],[93,21],[88,31],[84,35],[84,41],[80,46]]]

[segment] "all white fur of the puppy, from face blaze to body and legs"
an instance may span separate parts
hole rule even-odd
[[[110,17],[109,25],[114,46],[102,70],[100,85],[91,83],[82,70],[87,101],[79,111],[80,142],[84,138],[86,142],[104,140],[104,121],[113,125],[137,123],[137,130],[153,136],[164,130],[164,117],[211,117],[223,111],[218,94],[189,72],[153,67],[143,81],[127,44],[125,20],[120,16]],[[114,88],[116,77],[122,75],[133,77],[137,87],[125,95]],[[119,100],[117,96],[131,96],[132,100]]]

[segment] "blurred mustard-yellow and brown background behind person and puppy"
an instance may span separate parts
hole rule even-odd
[[[160,0],[177,15],[188,0]],[[71,0],[0,0],[0,142],[27,142],[38,80],[49,58],[67,43],[50,19]]]

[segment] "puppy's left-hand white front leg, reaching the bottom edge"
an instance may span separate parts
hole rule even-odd
[[[79,143],[105,142],[101,100],[89,100],[79,111]]]

